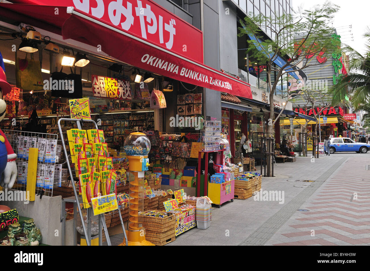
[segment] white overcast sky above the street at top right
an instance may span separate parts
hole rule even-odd
[[[324,0],[293,0],[293,8],[300,5],[304,9],[310,9],[313,5],[323,4]],[[337,28],[337,33],[341,35],[342,43],[346,43],[364,53],[364,43],[362,34],[365,32],[366,26],[370,26],[370,1],[367,0],[332,0],[332,3],[340,6],[333,20],[333,27]],[[352,25],[352,28],[348,26]],[[345,27],[345,28],[344,28]],[[349,32],[351,30],[351,32]],[[353,41],[350,34],[353,34]]]

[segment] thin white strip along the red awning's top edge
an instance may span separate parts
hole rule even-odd
[[[187,62],[190,62],[190,63],[192,63],[192,64],[194,64],[194,65],[197,65],[198,67],[204,68],[204,69],[209,70],[209,71],[211,71],[211,72],[215,72],[215,73],[217,73],[217,74],[221,75],[222,77],[225,77],[225,78],[231,79],[231,80],[233,80],[233,81],[235,81],[235,82],[238,82],[238,83],[241,83],[241,84],[243,84],[243,85],[246,85],[247,87],[250,87],[250,85],[249,85],[248,83],[243,82],[243,81],[238,80],[238,79],[235,79],[235,78],[232,78],[232,77],[227,77],[227,76],[225,76],[225,74],[224,74],[223,72],[219,72],[219,71],[217,71],[217,70],[211,70],[210,68],[205,67],[205,66],[203,66],[203,65],[201,65],[201,64],[198,64],[198,63],[196,63],[196,62],[194,62],[194,61],[192,61],[192,60],[189,60],[189,59],[187,59],[187,58],[185,58],[185,57],[182,57],[181,55],[178,55],[178,54],[175,54],[175,53],[173,53],[173,52],[171,52],[171,51],[165,50],[165,49],[163,49],[163,48],[161,48],[161,47],[158,47],[157,45],[154,45],[154,44],[148,43],[148,42],[147,42],[147,41],[145,41],[145,40],[141,40],[141,39],[139,39],[139,38],[137,38],[137,37],[135,37],[135,36],[133,36],[133,35],[130,35],[130,34],[128,34],[128,33],[126,33],[126,32],[124,32],[124,31],[118,30],[118,29],[117,29],[117,28],[115,28],[115,27],[108,26],[107,24],[104,24],[104,23],[102,23],[101,21],[98,21],[98,20],[95,20],[95,19],[93,19],[93,18],[90,18],[90,17],[88,17],[88,16],[86,16],[86,15],[84,15],[84,14],[82,14],[82,13],[79,13],[78,11],[75,11],[73,7],[67,7],[67,13],[74,14],[74,15],[76,15],[76,16],[78,16],[78,17],[81,17],[81,18],[84,18],[84,19],[86,19],[86,20],[88,20],[88,21],[91,21],[91,22],[93,22],[93,23],[99,24],[100,26],[103,26],[103,27],[108,28],[108,29],[110,29],[110,30],[113,30],[113,31],[115,31],[115,32],[117,32],[117,33],[120,33],[120,34],[122,34],[122,35],[125,35],[125,36],[127,36],[127,37],[129,37],[129,38],[132,38],[132,39],[134,39],[134,40],[137,40],[137,41],[139,41],[139,42],[141,42],[141,43],[147,44],[147,45],[149,45],[149,46],[151,46],[151,47],[154,47],[154,48],[156,48],[156,49],[158,49],[158,50],[161,50],[162,52],[165,52],[165,53],[167,53],[167,54],[171,54],[171,55],[173,55],[174,57],[181,58],[182,60],[185,60],[185,61],[187,61]],[[204,45],[203,45],[203,46],[204,46]],[[131,64],[131,65],[134,65],[134,64]]]

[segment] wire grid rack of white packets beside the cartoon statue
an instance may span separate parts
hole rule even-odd
[[[54,178],[59,176],[59,166],[55,162],[60,160],[61,145],[58,145],[58,135],[50,133],[23,132],[17,130],[3,130],[14,153],[17,154],[17,180],[13,190],[26,191],[28,152],[30,148],[38,148],[36,189],[35,193],[42,196],[53,196]],[[57,170],[57,174],[55,174]]]

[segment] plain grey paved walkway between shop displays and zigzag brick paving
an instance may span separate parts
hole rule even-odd
[[[212,209],[212,221],[208,229],[191,229],[168,245],[265,244],[300,207],[300,204],[296,206],[295,201],[305,202],[309,196],[308,194],[302,198],[301,193],[310,193],[312,188],[308,186],[312,183],[295,180],[316,180],[326,175],[327,178],[329,177],[327,170],[330,167],[327,162],[333,165],[334,171],[345,160],[346,158],[342,156],[330,156],[320,157],[312,163],[310,157],[297,157],[294,163],[277,163],[274,167],[274,174],[277,177],[263,177],[262,189],[284,191],[283,204],[279,204],[278,201],[255,201],[253,197],[246,200],[235,199],[221,208]],[[271,219],[274,223],[268,222]]]

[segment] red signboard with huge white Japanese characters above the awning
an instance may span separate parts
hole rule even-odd
[[[122,31],[203,63],[202,31],[151,0],[14,0],[11,2],[75,7],[117,26]],[[125,45],[122,44],[122,46]]]

